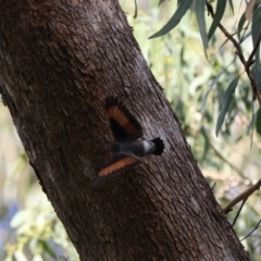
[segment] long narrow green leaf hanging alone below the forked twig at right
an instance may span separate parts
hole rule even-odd
[[[216,123],[216,127],[215,127],[215,135],[216,137],[219,137],[219,133],[220,133],[220,129],[221,129],[221,126],[224,122],[224,119],[225,119],[225,114],[228,110],[228,107],[231,104],[231,101],[233,99],[233,96],[234,96],[234,92],[235,92],[235,89],[237,87],[237,84],[238,84],[238,79],[239,79],[239,76],[234,78],[231,84],[228,85],[226,91],[225,91],[225,95],[223,97],[223,101],[222,101],[222,104],[221,104],[221,112],[220,112],[220,115],[217,117],[217,123]]]

